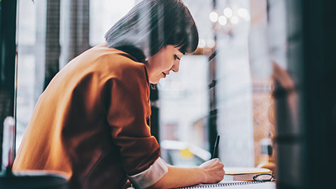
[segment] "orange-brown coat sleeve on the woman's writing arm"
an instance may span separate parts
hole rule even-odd
[[[148,169],[160,157],[160,146],[151,136],[149,83],[144,64],[121,66],[111,81],[107,120],[113,143],[127,175]]]

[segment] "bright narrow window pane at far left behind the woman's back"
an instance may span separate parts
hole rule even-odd
[[[43,91],[45,2],[18,1],[17,149]]]

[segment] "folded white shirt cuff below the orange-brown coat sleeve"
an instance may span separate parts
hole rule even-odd
[[[159,157],[158,160],[155,160],[153,165],[143,172],[127,176],[135,188],[148,188],[159,181],[167,172],[168,166],[166,162]]]

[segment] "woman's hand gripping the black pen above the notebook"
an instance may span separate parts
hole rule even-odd
[[[204,183],[218,183],[224,178],[224,165],[218,158],[204,162],[200,168],[204,172]]]

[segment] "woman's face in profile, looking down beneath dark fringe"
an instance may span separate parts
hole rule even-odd
[[[174,45],[167,45],[158,53],[149,57],[146,64],[149,82],[156,84],[160,78],[166,78],[170,71],[179,71],[182,56],[179,48],[174,47]]]

